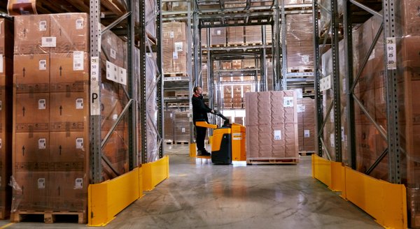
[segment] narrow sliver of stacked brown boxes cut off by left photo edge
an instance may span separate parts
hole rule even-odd
[[[12,190],[13,22],[0,18],[0,219],[10,214]]]

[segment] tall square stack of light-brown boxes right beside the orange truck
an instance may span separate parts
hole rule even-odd
[[[246,93],[245,100],[246,158],[297,160],[295,91]]]

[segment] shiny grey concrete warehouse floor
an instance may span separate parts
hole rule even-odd
[[[299,165],[212,165],[165,146],[169,179],[106,228],[381,228],[369,215]],[[8,221],[1,221],[4,226]],[[75,223],[15,223],[8,228],[85,228]]]

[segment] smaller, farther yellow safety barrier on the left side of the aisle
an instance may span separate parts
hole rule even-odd
[[[158,161],[146,163],[141,166],[143,168],[143,188],[144,191],[155,189],[160,182],[169,177],[169,157],[164,156]]]

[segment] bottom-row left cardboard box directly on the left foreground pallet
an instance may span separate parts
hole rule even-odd
[[[12,212],[50,210],[49,172],[19,171],[13,174],[13,178]]]

